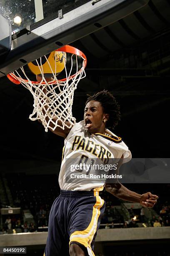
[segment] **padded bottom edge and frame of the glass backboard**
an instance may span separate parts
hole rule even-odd
[[[90,1],[65,13],[62,19],[57,17],[30,33],[26,31],[13,39],[10,53],[0,64],[0,77],[120,20],[147,3],[148,0],[105,0],[92,5]]]

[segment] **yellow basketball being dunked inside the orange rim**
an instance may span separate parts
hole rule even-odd
[[[60,72],[62,72],[64,69],[67,61],[66,52],[52,51],[50,54],[46,55],[46,58],[45,56],[41,57],[41,61],[40,59],[37,59],[39,67],[36,60],[28,63],[28,67],[30,68],[31,72],[35,75],[38,75],[41,74],[41,69],[42,73],[46,75],[52,74],[52,71],[54,74],[56,72],[56,75],[60,74]]]

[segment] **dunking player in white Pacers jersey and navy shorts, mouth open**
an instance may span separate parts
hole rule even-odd
[[[99,196],[103,187],[112,195],[129,202],[138,202],[143,207],[153,207],[158,200],[158,196],[150,192],[140,195],[119,182],[105,184],[92,179],[65,182],[66,158],[117,158],[120,159],[118,168],[123,160],[130,161],[128,147],[120,137],[108,130],[115,128],[119,120],[119,105],[110,92],[103,90],[87,99],[83,121],[71,129],[57,127],[52,131],[65,138],[65,146],[59,174],[61,193],[50,211],[45,256],[95,255],[95,237],[105,210],[105,202]]]

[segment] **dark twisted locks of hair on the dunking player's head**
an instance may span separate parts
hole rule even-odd
[[[106,122],[106,127],[114,129],[120,120],[120,105],[116,101],[115,97],[107,90],[103,90],[88,97],[85,105],[87,105],[87,103],[91,100],[96,100],[100,102],[104,113],[109,114],[109,119]]]

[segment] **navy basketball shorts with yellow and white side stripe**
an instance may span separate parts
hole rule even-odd
[[[98,191],[61,190],[50,211],[45,256],[69,255],[71,243],[79,244],[86,255],[95,255],[95,237],[105,211]]]

